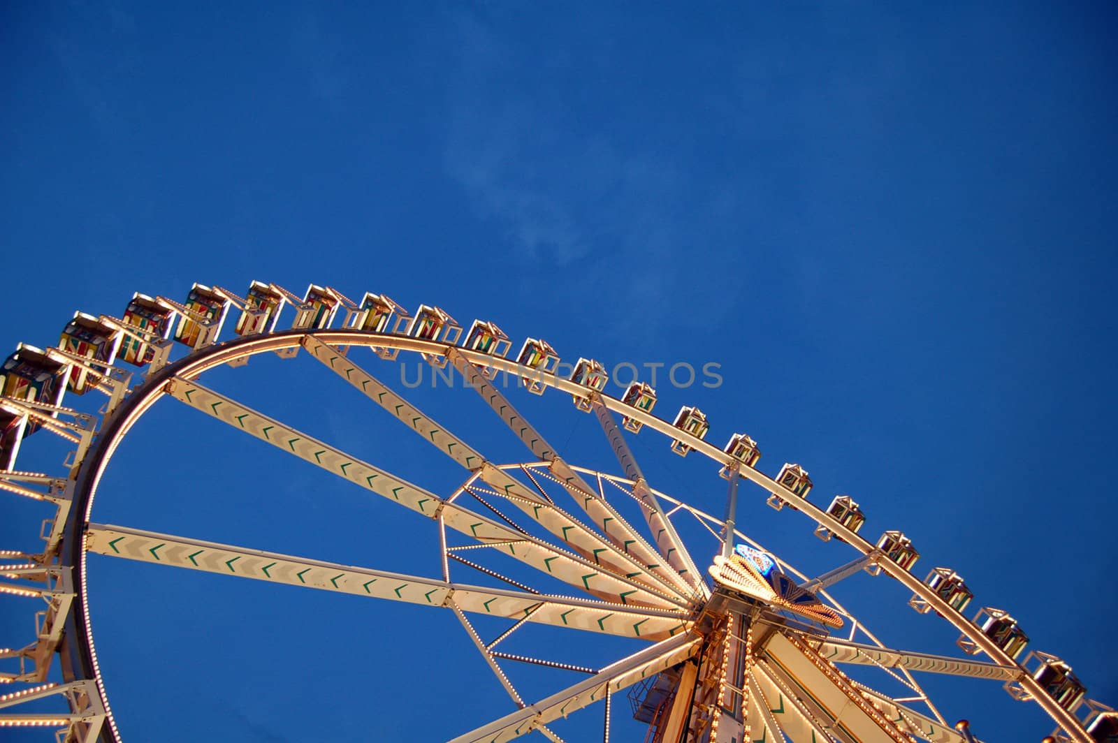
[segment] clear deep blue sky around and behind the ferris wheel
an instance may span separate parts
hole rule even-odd
[[[917,573],[955,568],[1118,702],[1105,3],[0,12],[0,347],[133,292],[262,279],[438,304],[571,361],[720,363],[718,389],[662,383],[657,412],[698,404],[714,442],[758,440],[764,471],[798,461],[816,502],[850,493],[868,532],[912,537]],[[457,476],[313,362],[239,372],[216,379],[432,487]],[[419,394],[523,457],[447,392]],[[609,466],[590,417],[519,400],[568,458]],[[95,520],[436,574],[428,524],[164,407]],[[64,453],[45,436],[28,467]],[[654,485],[721,509],[713,473],[636,441]],[[807,572],[850,556],[754,495],[755,539]],[[34,539],[41,516],[0,504],[0,534]],[[107,562],[94,621],[129,740],[405,740],[416,720],[437,740],[511,709],[449,615]],[[887,644],[954,648],[884,579],[847,590]],[[996,685],[940,687],[988,741],[1048,733]],[[585,715],[569,740],[597,734]],[[626,716],[615,733],[639,740]]]

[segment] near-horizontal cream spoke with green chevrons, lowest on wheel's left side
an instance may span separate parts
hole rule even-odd
[[[479,615],[513,620],[527,618],[528,621],[540,625],[650,641],[679,635],[688,626],[688,617],[681,612],[453,583],[124,526],[89,524],[86,551],[138,562],[426,607],[455,606]]]

